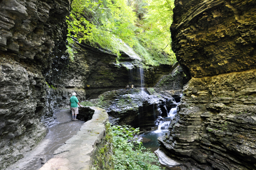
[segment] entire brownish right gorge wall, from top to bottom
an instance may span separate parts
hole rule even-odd
[[[256,169],[256,1],[175,0],[172,48],[191,80],[161,149],[184,170]]]

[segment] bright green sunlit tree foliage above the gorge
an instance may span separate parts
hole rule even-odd
[[[172,64],[169,27],[173,0],[73,0],[68,42],[77,39],[117,56],[127,43],[145,65]],[[122,41],[120,41],[122,40]]]

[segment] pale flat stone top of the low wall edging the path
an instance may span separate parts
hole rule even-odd
[[[91,169],[96,144],[99,144],[105,135],[108,113],[99,107],[90,108],[95,110],[93,118],[85,122],[76,135],[55,150],[54,157],[47,161],[40,170]]]

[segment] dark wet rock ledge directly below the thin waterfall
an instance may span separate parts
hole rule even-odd
[[[102,97],[106,99],[102,102],[112,124],[128,124],[140,127],[140,130],[151,130],[157,127],[157,117],[167,111],[160,107],[165,104],[163,98],[148,95],[141,89],[105,92]]]

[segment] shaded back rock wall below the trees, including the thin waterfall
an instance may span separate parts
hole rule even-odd
[[[52,65],[52,76],[47,76],[47,80],[54,86],[75,89],[81,101],[98,98],[104,92],[125,89],[127,84],[154,86],[163,75],[172,71],[172,66],[160,65],[144,72],[141,59],[125,52],[121,52],[117,64],[116,55],[109,51],[79,42],[74,44],[74,49],[74,60],[67,62],[61,58]]]

